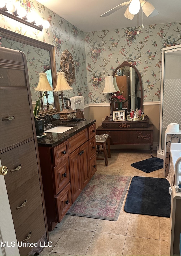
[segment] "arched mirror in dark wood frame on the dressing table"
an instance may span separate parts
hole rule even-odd
[[[123,62],[113,72],[113,83],[117,84],[120,91],[124,91],[122,95],[126,98],[123,101],[123,108],[128,112],[136,108],[143,109],[143,88],[141,76],[135,66],[128,62]],[[115,106],[116,108],[116,106]]]

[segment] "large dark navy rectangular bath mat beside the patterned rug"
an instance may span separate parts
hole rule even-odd
[[[124,211],[128,213],[170,217],[170,184],[164,178],[132,178]]]

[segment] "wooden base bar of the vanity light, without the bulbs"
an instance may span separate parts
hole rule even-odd
[[[0,7],[0,14],[2,15],[5,15],[13,20],[16,20],[16,21],[19,21],[27,26],[30,26],[30,27],[33,27],[33,28],[36,28],[40,31],[43,30],[43,26],[42,25],[37,25],[35,24],[35,22],[29,22],[27,19],[26,19],[26,16],[23,17],[23,18],[20,18],[17,14],[17,10],[15,10],[14,12],[8,12],[6,6],[5,7]],[[48,21],[47,21],[48,22]],[[47,27],[48,28],[48,27]]]

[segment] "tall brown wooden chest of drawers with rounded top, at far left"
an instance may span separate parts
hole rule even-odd
[[[49,238],[26,58],[3,47],[0,56],[0,158],[17,241],[38,242],[20,255],[34,255]]]

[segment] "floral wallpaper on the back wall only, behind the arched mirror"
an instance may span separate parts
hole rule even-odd
[[[85,33],[89,103],[103,103],[105,76],[127,61],[141,74],[143,101],[160,100],[162,48],[181,43],[181,23]]]

